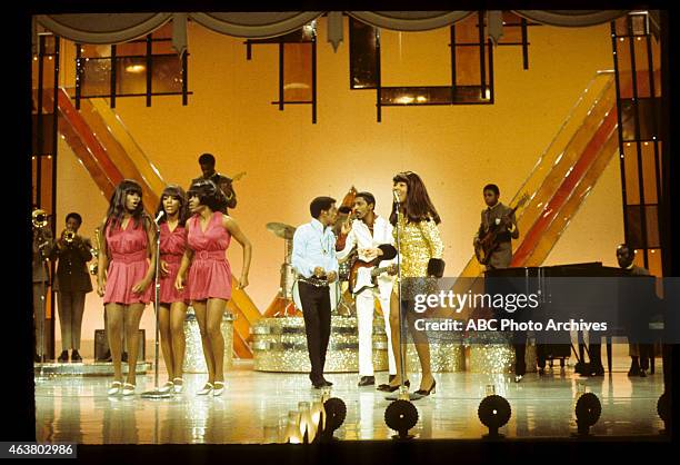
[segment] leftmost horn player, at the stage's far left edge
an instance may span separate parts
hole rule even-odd
[[[33,268],[33,321],[36,327],[34,360],[43,360],[44,355],[44,305],[49,284],[49,258],[54,240],[48,227],[48,215],[33,206],[32,211],[33,240],[31,265]]]

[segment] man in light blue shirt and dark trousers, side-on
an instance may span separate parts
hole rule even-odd
[[[336,222],[336,199],[317,197],[309,206],[312,220],[301,225],[293,235],[292,267],[298,273],[298,289],[307,350],[314,388],[331,386],[323,377],[326,352],[330,339],[331,304],[329,285],[338,279],[336,236],[330,226]]]

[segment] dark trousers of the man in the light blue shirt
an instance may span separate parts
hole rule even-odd
[[[323,379],[326,352],[330,339],[330,294],[328,287],[317,287],[302,281],[299,283],[299,286],[304,333],[307,333],[307,350],[311,363],[309,378],[317,384]]]

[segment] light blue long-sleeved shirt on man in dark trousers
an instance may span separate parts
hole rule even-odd
[[[310,278],[320,266],[326,273],[338,273],[336,235],[330,227],[312,218],[296,229],[293,235],[292,267],[299,275]]]

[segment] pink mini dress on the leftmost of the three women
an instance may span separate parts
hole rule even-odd
[[[107,246],[111,261],[107,270],[107,287],[104,304],[149,304],[153,293],[153,284],[147,286],[143,293],[132,293],[132,287],[141,281],[149,270],[148,237],[139,220],[130,218],[126,229],[119,225],[107,227]]]

